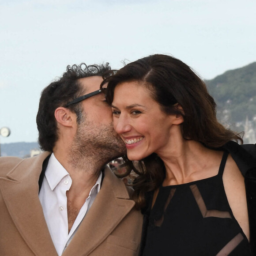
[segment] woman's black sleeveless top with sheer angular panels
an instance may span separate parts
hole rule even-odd
[[[225,152],[214,177],[160,187],[143,256],[250,256],[223,186]]]

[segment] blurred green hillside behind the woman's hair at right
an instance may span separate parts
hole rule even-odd
[[[218,106],[218,119],[235,124],[256,117],[256,62],[205,80]]]

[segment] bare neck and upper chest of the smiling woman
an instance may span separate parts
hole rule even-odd
[[[166,168],[163,185],[184,184],[217,175],[223,154],[221,151],[186,139],[173,145],[168,154],[159,155]]]

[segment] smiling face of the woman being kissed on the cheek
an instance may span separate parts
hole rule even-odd
[[[113,124],[123,139],[130,160],[168,150],[176,115],[164,113],[149,89],[139,82],[117,85],[112,102]]]

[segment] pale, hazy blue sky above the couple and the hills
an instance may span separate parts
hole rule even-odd
[[[203,79],[256,61],[255,0],[0,0],[0,143],[36,142],[41,90],[67,65],[170,54]]]

